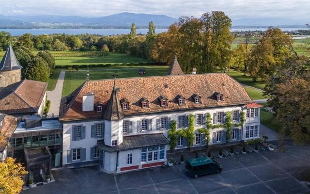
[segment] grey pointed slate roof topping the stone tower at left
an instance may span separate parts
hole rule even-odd
[[[0,71],[10,71],[22,68],[23,67],[18,63],[13,48],[10,44],[0,62]]]

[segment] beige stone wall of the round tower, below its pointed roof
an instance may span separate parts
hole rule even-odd
[[[0,71],[0,91],[6,86],[20,81],[20,69]]]

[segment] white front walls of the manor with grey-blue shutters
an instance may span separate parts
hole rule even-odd
[[[255,113],[255,110],[257,110],[258,112]],[[246,119],[244,126],[233,127],[232,133],[234,132],[233,137],[235,138],[234,139],[232,138],[231,141],[241,141],[241,140],[247,141],[249,139],[259,138],[259,126],[260,126],[259,108],[256,108],[255,110],[253,112],[253,116],[251,116],[251,113],[249,113],[250,116]],[[139,135],[139,134],[146,134],[146,133],[147,134],[163,133],[167,137],[169,129],[159,129],[157,126],[158,121],[161,121],[160,119],[163,117],[169,118],[167,119],[166,122],[175,120],[177,122],[177,126],[178,126],[177,128],[182,129],[178,125],[180,115],[188,116],[189,114],[193,114],[195,116],[196,114],[202,114],[203,115],[202,119],[205,119],[206,113],[210,113],[212,119],[214,119],[215,113],[221,113],[221,112],[227,113],[228,111],[230,112],[236,111],[238,115],[240,115],[240,113],[244,111],[246,112],[246,115],[247,115],[247,110],[245,109],[245,107],[227,106],[227,107],[218,107],[218,108],[212,108],[212,109],[210,108],[210,109],[203,109],[203,110],[182,110],[182,111],[145,114],[145,115],[138,115],[138,116],[126,116],[124,119],[121,119],[120,121],[112,121],[112,122],[103,121],[103,120],[85,120],[85,121],[74,122],[74,123],[66,122],[66,123],[63,123],[63,152],[62,152],[63,161],[62,161],[62,164],[70,166],[78,162],[92,163],[93,161],[97,162],[98,160],[100,160],[102,161],[102,165],[106,171],[127,171],[127,170],[140,169],[140,168],[145,168],[145,167],[151,167],[153,165],[152,163],[160,165],[161,163],[167,162],[166,152],[167,150],[169,150],[169,145],[164,147],[165,154],[162,159],[159,159],[158,157],[156,158],[157,160],[155,160],[154,155],[152,155],[154,160],[151,160],[151,161],[147,160],[147,162],[146,161],[142,162],[142,158],[141,158],[142,149],[141,148],[126,150],[126,151],[119,151],[119,152],[110,152],[110,153],[100,152],[100,158],[93,158],[92,157],[93,153],[91,153],[91,151],[93,151],[93,147],[97,146],[97,140],[102,139],[102,137],[101,138],[92,137],[92,126],[95,124],[104,122],[105,145],[115,146],[115,145],[112,145],[113,141],[117,141],[117,145],[120,145],[123,142],[123,136]],[[143,119],[149,120],[148,129],[140,131],[139,127],[141,127],[140,125]],[[124,121],[129,121],[131,123],[131,126],[130,126],[130,131],[126,133],[124,132],[123,134],[123,122]],[[223,120],[223,123],[224,123],[224,120]],[[236,121],[236,123],[239,123],[239,118],[238,118],[238,121]],[[77,139],[77,140],[73,139],[73,130],[74,130],[73,128],[75,126],[82,126],[81,131],[85,129],[85,134],[84,134],[85,136],[83,138]],[[253,126],[252,132],[251,132],[251,126]],[[198,134],[198,129],[202,127],[203,125],[198,125],[198,126],[195,125],[195,129],[196,129],[195,134]],[[246,129],[249,129],[248,132],[246,131]],[[219,134],[221,134],[222,136],[219,136]],[[226,139],[223,140],[223,138],[225,138],[225,135],[226,135],[226,131],[223,128],[212,129],[210,131],[211,141],[209,142],[209,145],[225,143]],[[217,141],[217,140],[220,140],[220,141]],[[203,140],[199,140],[197,142],[198,144],[195,144],[196,142],[194,142],[193,146],[204,145]],[[178,142],[177,142],[176,149],[185,148],[185,147],[186,145],[178,146]],[[68,159],[68,154],[72,154],[73,149],[80,149],[80,154],[81,155],[85,154],[85,156],[80,156],[80,160],[73,160],[72,156],[71,156],[71,160]],[[159,146],[158,146],[158,149],[160,149]],[[147,154],[148,152],[149,151],[147,151]],[[159,153],[159,150],[158,150],[158,153]]]

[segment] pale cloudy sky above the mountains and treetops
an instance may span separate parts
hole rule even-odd
[[[310,0],[0,0],[0,15],[108,16],[122,12],[201,16],[221,10],[233,19],[309,18]]]

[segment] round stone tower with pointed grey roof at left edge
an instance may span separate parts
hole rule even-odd
[[[0,91],[6,86],[20,81],[20,69],[13,48],[10,44],[0,62]]]

